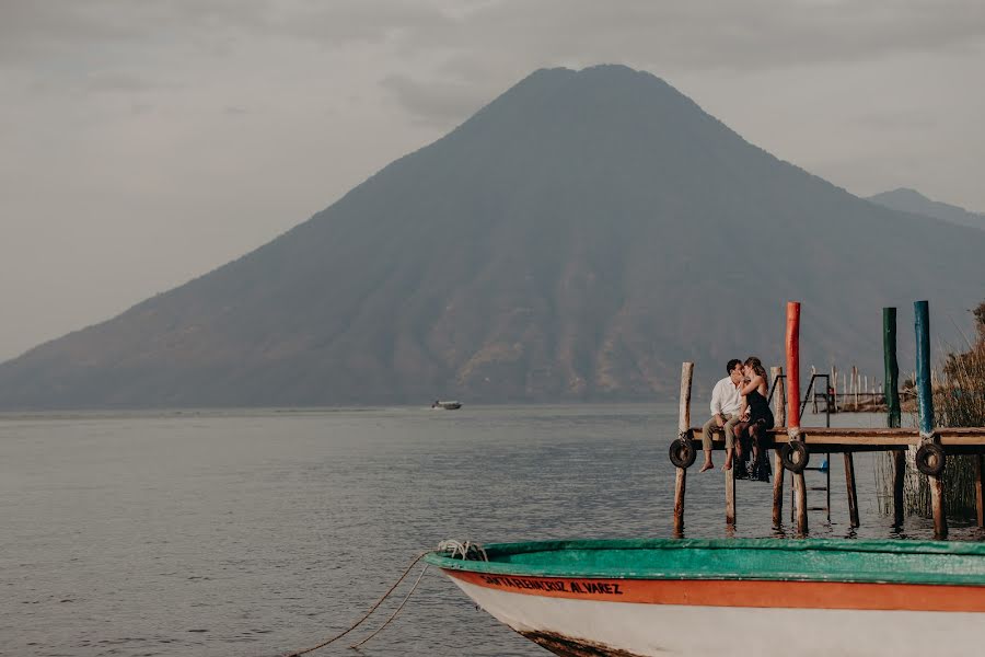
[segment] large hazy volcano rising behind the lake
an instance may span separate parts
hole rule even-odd
[[[983,247],[648,73],[540,70],[265,246],[0,365],[0,406],[650,399],[685,359],[704,385],[779,358],[788,299],[807,358],[874,366],[882,306],[973,308]]]

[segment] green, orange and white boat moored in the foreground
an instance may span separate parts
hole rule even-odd
[[[426,560],[567,657],[985,653],[980,543],[546,541]]]

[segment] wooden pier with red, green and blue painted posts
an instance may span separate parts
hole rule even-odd
[[[985,528],[985,427],[945,428],[934,426],[934,400],[930,388],[929,320],[926,301],[915,304],[917,337],[916,388],[920,411],[919,427],[900,427],[900,400],[889,395],[887,428],[826,428],[801,427],[800,410],[806,403],[799,390],[799,330],[800,304],[788,304],[787,314],[787,384],[785,387],[781,368],[772,368],[770,399],[777,426],[767,435],[774,450],[774,495],[773,523],[781,525],[784,504],[784,479],[790,472],[793,488],[793,516],[797,531],[808,532],[808,487],[803,471],[811,453],[841,453],[845,459],[845,484],[848,492],[848,511],[851,527],[858,527],[858,496],[855,485],[853,454],[856,452],[894,452],[893,509],[896,526],[903,523],[903,481],[905,475],[906,450],[916,449],[917,469],[927,475],[931,493],[931,511],[936,538],[948,534],[947,512],[943,505],[941,473],[945,461],[951,454],[973,454],[975,457],[976,516],[978,527]],[[890,312],[891,311],[891,312]],[[887,390],[895,391],[899,368],[895,359],[895,309],[884,309],[884,349],[887,364]],[[674,485],[674,532],[684,530],[684,502],[687,469],[694,463],[699,451],[700,427],[691,426],[691,388],[694,364],[684,362],[681,369],[681,396],[679,414],[679,436],[671,442],[670,457],[676,465]],[[784,394],[786,388],[786,395]],[[712,436],[712,449],[725,449],[721,429]],[[738,462],[737,462],[738,463]],[[734,466],[725,471],[726,523],[732,526],[737,518]]]

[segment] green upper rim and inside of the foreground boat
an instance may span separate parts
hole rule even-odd
[[[985,586],[985,543],[841,539],[642,539],[498,543],[441,568],[532,577]]]

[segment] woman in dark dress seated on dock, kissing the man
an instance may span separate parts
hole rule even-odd
[[[766,368],[755,356],[745,359],[742,366],[746,383],[742,387],[742,407],[739,412],[742,422],[735,425],[735,454],[739,457],[739,468],[735,476],[768,482],[769,461],[766,460],[766,430],[773,428],[773,412],[766,395],[769,394],[769,382],[766,380]],[[750,447],[752,448],[750,450]],[[752,452],[752,466],[746,470],[745,461]]]

